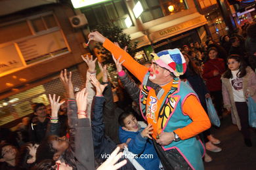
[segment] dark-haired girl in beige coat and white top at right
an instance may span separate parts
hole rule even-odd
[[[228,57],[228,70],[223,74],[224,107],[232,110],[232,122],[244,135],[246,146],[252,146],[249,122],[247,97],[256,101],[256,75],[250,67],[246,67],[241,56]]]

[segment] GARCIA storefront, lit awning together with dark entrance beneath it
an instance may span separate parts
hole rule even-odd
[[[148,29],[149,39],[155,52],[179,48],[189,42],[201,42],[205,39],[205,24],[207,20],[203,15],[190,14]]]

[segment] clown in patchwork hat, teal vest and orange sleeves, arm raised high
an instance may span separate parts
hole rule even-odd
[[[89,34],[92,40],[102,42],[116,59],[121,56],[117,61],[142,82],[140,111],[152,124],[154,146],[164,169],[203,169],[204,148],[196,135],[211,123],[194,90],[179,79],[186,71],[181,52],[175,48],[151,54],[154,58],[148,69],[97,31]]]

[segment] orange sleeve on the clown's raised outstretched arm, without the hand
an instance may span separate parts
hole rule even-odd
[[[135,59],[133,59],[127,52],[125,52],[123,49],[116,46],[113,42],[111,42],[109,39],[106,39],[103,43],[104,48],[112,52],[114,54],[114,57],[118,59],[121,56],[120,61],[123,61],[125,59],[125,62],[123,63],[123,66],[128,69],[136,78],[140,80],[140,82],[143,81],[144,76],[148,72],[148,68],[144,65],[141,65]]]

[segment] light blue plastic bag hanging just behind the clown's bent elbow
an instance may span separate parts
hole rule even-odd
[[[208,116],[211,121],[211,124],[213,124],[214,126],[220,127],[221,121],[219,120],[219,116],[218,116],[218,114],[215,110],[215,107],[213,105],[213,101],[211,101],[211,98],[207,98],[205,100],[206,100]]]

